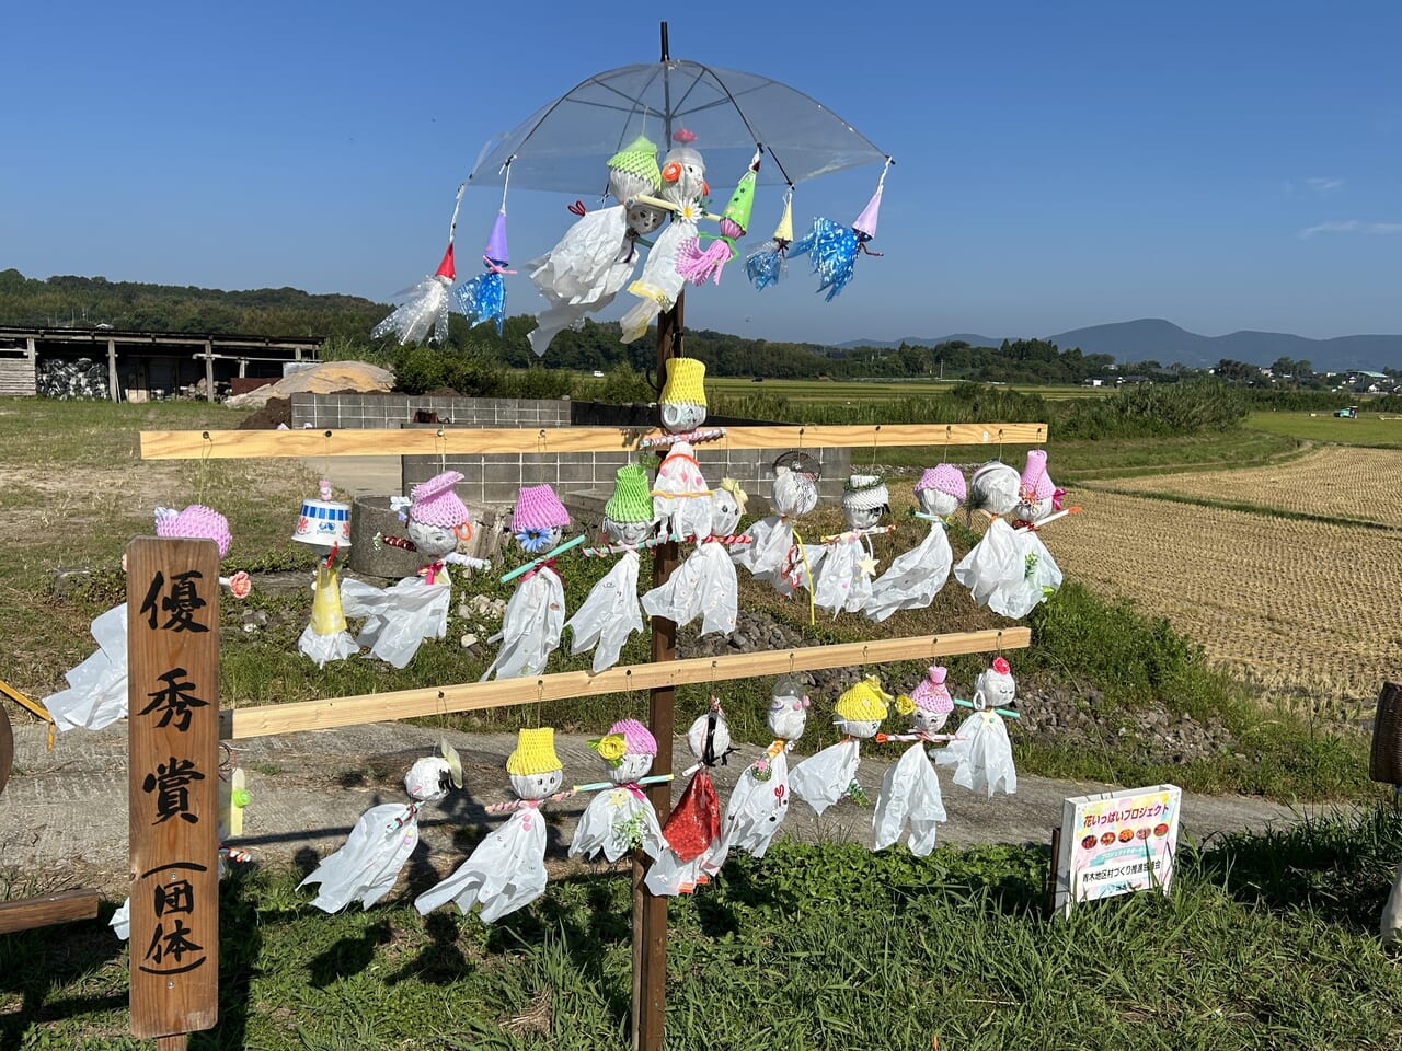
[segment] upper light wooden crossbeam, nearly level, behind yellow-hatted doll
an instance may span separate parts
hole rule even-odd
[[[632,453],[652,427],[439,427],[405,430],[143,430],[142,460],[252,457]],[[726,427],[729,448],[1028,446],[1046,423],[869,423]]]

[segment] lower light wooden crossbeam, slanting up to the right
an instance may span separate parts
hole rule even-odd
[[[219,736],[224,740],[238,740],[300,730],[329,730],[336,726],[360,726],[508,705],[533,705],[541,701],[564,701],[575,696],[625,694],[635,689],[679,687],[690,682],[721,682],[854,664],[934,660],[958,653],[1016,650],[1030,645],[1032,631],[1029,628],[1000,628],[628,664],[600,671],[597,675],[589,671],[559,671],[534,678],[505,678],[491,682],[400,689],[390,694],[362,694],[325,701],[233,708],[220,712]]]

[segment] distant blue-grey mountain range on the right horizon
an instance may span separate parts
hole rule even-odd
[[[1012,336],[1016,338],[1016,336]],[[1225,336],[1202,336],[1179,328],[1162,318],[1120,321],[1110,325],[1091,325],[1059,332],[1050,339],[1063,350],[1081,348],[1087,355],[1110,355],[1116,362],[1155,360],[1161,364],[1186,364],[1193,369],[1210,369],[1220,360],[1246,362],[1270,366],[1280,357],[1307,360],[1315,371],[1346,371],[1349,369],[1392,369],[1402,366],[1402,335],[1359,335],[1335,336],[1333,339],[1308,339],[1287,332],[1253,332],[1244,329]],[[907,336],[894,341],[857,339],[843,343],[843,349],[858,346],[934,346],[951,339],[962,339],[973,346],[998,346],[1002,338],[976,334],[956,334],[927,339]]]

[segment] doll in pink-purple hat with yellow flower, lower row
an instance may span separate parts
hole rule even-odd
[[[614,788],[589,800],[575,825],[569,856],[583,855],[592,860],[601,851],[604,858],[615,862],[628,851],[642,851],[656,860],[667,848],[667,841],[662,838],[658,811],[638,782],[652,769],[658,739],[637,719],[620,719],[589,747],[607,764]]]

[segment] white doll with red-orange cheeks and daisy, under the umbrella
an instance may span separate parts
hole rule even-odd
[[[658,191],[658,198],[672,217],[653,241],[648,261],[642,265],[642,276],[628,286],[628,291],[639,301],[620,320],[624,343],[641,339],[662,311],[677,304],[677,296],[686,284],[677,270],[677,255],[684,242],[695,238],[697,221],[704,212],[702,202],[711,195],[705,181],[705,160],[691,146],[695,135],[679,128],[672,133],[672,140],[677,144],[662,158],[662,189]]]

